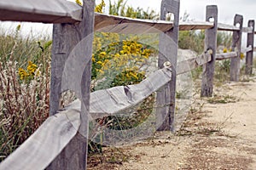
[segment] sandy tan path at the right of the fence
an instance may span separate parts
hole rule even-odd
[[[256,77],[214,89],[195,99],[183,128],[175,134],[90,156],[88,169],[256,169]]]

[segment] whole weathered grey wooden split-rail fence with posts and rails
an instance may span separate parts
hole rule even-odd
[[[89,114],[94,118],[114,115],[136,105],[154,92],[157,92],[157,105],[170,104],[157,111],[159,130],[174,131],[177,75],[203,65],[201,96],[212,96],[215,60],[231,59],[230,78],[231,81],[238,81],[242,32],[247,32],[247,48],[242,51],[247,54],[246,73],[252,74],[255,49],[253,36],[256,33],[254,20],[249,20],[248,26],[242,27],[243,18],[236,14],[234,25],[218,23],[218,8],[213,5],[207,6],[205,22],[179,23],[179,5],[179,0],[162,0],[160,20],[137,20],[95,14],[93,0],[84,0],[83,7],[61,0],[0,1],[0,20],[54,24],[50,116],[24,144],[0,164],[0,169],[86,169]],[[166,21],[168,13],[174,14],[172,22]],[[210,21],[211,18],[214,19],[213,22]],[[205,53],[177,63],[178,31],[191,30],[206,30]],[[161,32],[159,70],[137,85],[109,88],[90,94],[90,56],[94,31]],[[218,31],[233,31],[232,52],[217,54]],[[85,46],[79,46],[84,38]],[[73,54],[73,48],[77,46],[83,49]],[[78,63],[84,63],[84,67],[75,61],[67,62],[70,56]],[[80,80],[73,79],[76,72],[70,70],[70,75],[66,76],[72,82],[67,83],[67,86],[63,85],[66,62],[68,68],[84,70],[79,73]],[[79,90],[74,88],[80,84],[84,86]],[[61,88],[63,86],[65,88]],[[66,111],[58,111],[60,94],[67,89],[75,91],[79,100],[68,105]]]

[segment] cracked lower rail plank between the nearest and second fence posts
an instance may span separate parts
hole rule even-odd
[[[119,86],[98,90],[90,94],[90,116],[101,118],[113,116],[120,111],[137,105],[150,94],[153,94],[167,82],[172,80],[172,70],[168,67],[150,74],[143,82],[130,86]],[[64,110],[80,111],[81,102],[79,99],[67,105]]]

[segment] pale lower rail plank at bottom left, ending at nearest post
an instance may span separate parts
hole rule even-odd
[[[61,153],[80,126],[79,111],[62,111],[49,118],[1,164],[0,170],[41,170]]]

